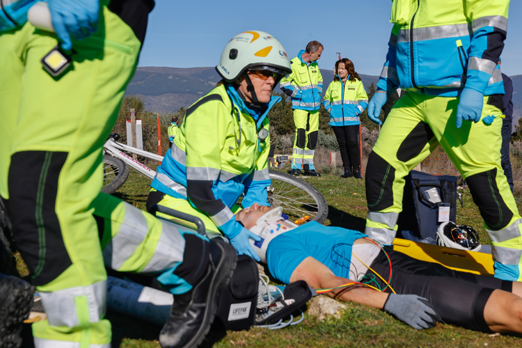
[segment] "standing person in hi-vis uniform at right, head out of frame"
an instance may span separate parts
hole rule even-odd
[[[522,219],[500,165],[504,86],[497,64],[509,0],[395,0],[386,63],[368,117],[397,88],[368,159],[365,233],[391,244],[404,176],[438,144],[459,169],[493,240],[495,276],[522,280]]]

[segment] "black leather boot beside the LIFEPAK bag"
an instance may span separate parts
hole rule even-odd
[[[236,267],[235,248],[214,238],[210,241],[207,273],[192,290],[175,295],[171,315],[159,333],[163,348],[197,347],[207,335],[217,308],[217,293],[228,284]]]

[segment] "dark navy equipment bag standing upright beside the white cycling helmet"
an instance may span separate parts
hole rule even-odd
[[[457,198],[462,205],[461,197],[457,193],[457,177],[411,171],[404,180],[406,183],[397,232],[411,231],[419,239],[436,239],[438,226],[441,225],[441,222],[438,222],[438,209],[439,205],[444,203],[450,205],[450,221],[457,223]],[[427,193],[430,189],[436,190],[441,204],[430,200]]]

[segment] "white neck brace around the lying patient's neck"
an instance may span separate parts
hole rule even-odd
[[[259,242],[250,239],[250,244],[256,254],[258,254],[261,262],[267,263],[267,248],[272,239],[281,233],[288,232],[297,227],[290,220],[283,220],[283,207],[276,207],[261,216],[256,225],[250,230],[261,237]]]

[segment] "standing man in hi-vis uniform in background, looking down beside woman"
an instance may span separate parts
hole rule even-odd
[[[296,135],[292,152],[292,175],[321,176],[313,164],[317,131],[319,130],[319,108],[323,92],[323,77],[317,61],[321,58],[323,45],[310,41],[306,49],[290,61],[292,73],[281,79],[281,90],[292,97]]]

